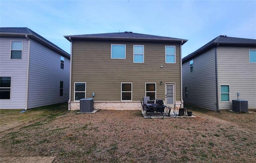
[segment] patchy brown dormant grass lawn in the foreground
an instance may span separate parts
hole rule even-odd
[[[54,163],[256,160],[256,110],[238,114],[194,107],[196,118],[166,119],[144,119],[140,111],[61,114],[67,106],[55,111],[46,109],[50,118],[0,132],[0,157],[50,157]]]

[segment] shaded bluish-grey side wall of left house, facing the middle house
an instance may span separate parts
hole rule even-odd
[[[64,59],[60,68],[60,54],[31,40],[28,108],[68,102],[70,60]],[[60,97],[60,81],[64,81]]]

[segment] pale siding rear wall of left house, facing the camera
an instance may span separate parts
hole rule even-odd
[[[22,59],[11,60],[11,41],[23,41]],[[0,109],[25,109],[28,40],[26,38],[0,38],[0,76],[12,77],[11,99],[0,100]]]

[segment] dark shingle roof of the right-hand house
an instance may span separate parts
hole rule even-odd
[[[212,41],[205,44],[204,46],[202,46],[201,48],[199,48],[198,50],[196,50],[195,52],[193,52],[190,55],[184,57],[182,59],[182,62],[191,58],[192,56],[195,56],[199,52],[202,52],[203,50],[206,50],[210,46],[217,45],[217,44],[219,44],[219,45],[224,45],[225,44],[225,45],[254,45],[254,46],[256,46],[256,40],[255,39],[248,39],[248,38],[234,38],[234,37],[227,37],[227,36],[220,35],[220,36],[214,38]]]

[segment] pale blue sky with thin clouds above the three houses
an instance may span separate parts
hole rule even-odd
[[[182,57],[219,35],[256,39],[256,0],[0,0],[0,27],[63,36],[132,31],[187,39]]]

